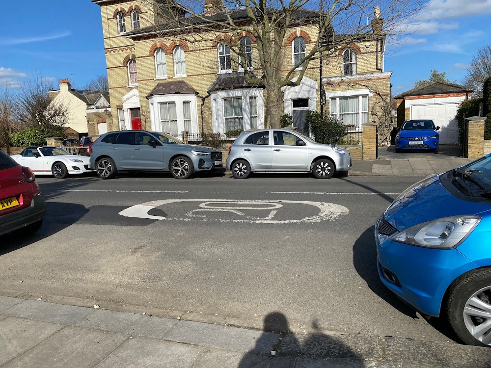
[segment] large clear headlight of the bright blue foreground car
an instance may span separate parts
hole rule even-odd
[[[413,226],[392,240],[425,248],[452,249],[464,241],[479,221],[478,215],[443,217]]]

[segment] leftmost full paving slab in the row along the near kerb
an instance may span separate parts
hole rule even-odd
[[[2,314],[70,325],[81,321],[93,312],[95,310],[91,308],[25,300],[2,311]]]

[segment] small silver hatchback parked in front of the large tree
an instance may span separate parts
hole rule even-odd
[[[227,169],[236,179],[246,179],[254,171],[311,172],[328,179],[351,170],[351,157],[341,147],[317,143],[290,129],[249,130],[230,147]]]

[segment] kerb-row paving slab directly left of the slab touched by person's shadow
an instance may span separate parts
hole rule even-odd
[[[98,310],[78,322],[77,326],[163,339],[177,322],[171,318]]]

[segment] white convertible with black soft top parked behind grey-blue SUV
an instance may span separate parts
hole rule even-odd
[[[28,147],[20,155],[14,155],[12,158],[22,166],[30,168],[34,174],[51,172],[56,179],[94,171],[89,169],[89,157],[70,155],[58,147]]]

